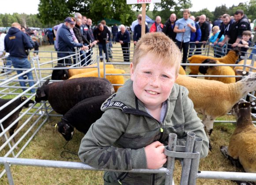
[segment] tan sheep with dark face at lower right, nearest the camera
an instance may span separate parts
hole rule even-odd
[[[256,126],[252,123],[249,102],[234,105],[231,114],[237,119],[236,129],[230,137],[228,148],[221,146],[220,151],[233,163],[241,163],[245,172],[256,173]],[[252,107],[256,103],[252,102]]]

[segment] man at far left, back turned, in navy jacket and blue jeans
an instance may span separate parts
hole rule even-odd
[[[26,50],[32,49],[33,45],[30,43],[26,33],[21,31],[21,26],[18,22],[11,25],[10,30],[4,37],[4,48],[6,52],[10,53],[10,59],[14,68],[30,69],[31,65],[28,60],[28,52]],[[22,70],[17,70],[17,74],[21,74]],[[32,71],[26,73],[29,80],[30,87],[34,85]],[[25,80],[24,75],[19,77],[19,80]],[[19,81],[20,86],[26,87],[25,81]],[[22,89],[25,91],[26,89]],[[30,90],[35,93],[35,89]]]

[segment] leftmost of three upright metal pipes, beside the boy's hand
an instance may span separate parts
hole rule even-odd
[[[177,143],[177,134],[170,133],[168,139],[168,146],[166,148],[170,151],[176,151],[176,143]],[[165,154],[164,150],[164,154]],[[173,181],[173,171],[174,171],[174,162],[175,157],[167,157],[167,173],[165,175],[165,185],[170,185]]]

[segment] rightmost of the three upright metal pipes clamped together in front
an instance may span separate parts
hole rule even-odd
[[[202,149],[202,144],[203,144],[203,139],[200,137],[196,137],[193,153],[197,153],[198,158],[192,159],[191,161],[191,167],[190,167],[190,173],[189,173],[189,185],[195,185],[197,183],[197,170],[198,170],[199,161],[200,161],[200,152]]]

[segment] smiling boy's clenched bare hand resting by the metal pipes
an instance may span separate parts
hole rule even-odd
[[[163,154],[164,146],[159,141],[155,141],[145,147],[148,169],[158,169],[166,163],[166,155]]]

